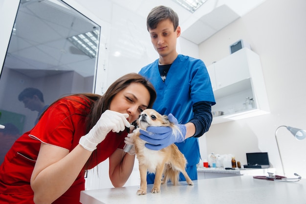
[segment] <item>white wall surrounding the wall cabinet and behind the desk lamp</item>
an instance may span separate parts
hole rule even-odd
[[[250,43],[261,57],[271,109],[268,115],[212,125],[206,134],[208,153],[232,153],[246,164],[246,152],[268,152],[276,173],[283,174],[276,128],[306,129],[305,9],[305,0],[266,0],[199,45],[199,56],[209,65],[229,55],[233,42]],[[297,141],[281,128],[278,141],[286,176],[296,172],[306,177],[306,140]]]

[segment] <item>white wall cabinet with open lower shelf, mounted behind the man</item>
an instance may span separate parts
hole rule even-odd
[[[260,57],[248,48],[207,67],[217,104],[212,111],[223,111],[212,124],[269,113]]]

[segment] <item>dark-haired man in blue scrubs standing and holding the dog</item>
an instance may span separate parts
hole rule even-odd
[[[153,150],[175,143],[187,159],[186,171],[197,180],[200,153],[198,137],[208,131],[212,122],[211,106],[216,104],[210,78],[203,61],[176,52],[176,39],[181,30],[178,16],[169,7],[157,6],[147,18],[147,29],[159,59],[143,67],[139,74],[153,83],[157,98],[153,109],[168,115],[181,130],[181,137],[171,137],[167,127],[148,127],[140,137]],[[154,174],[148,174],[153,184]],[[180,180],[185,178],[180,174]]]

